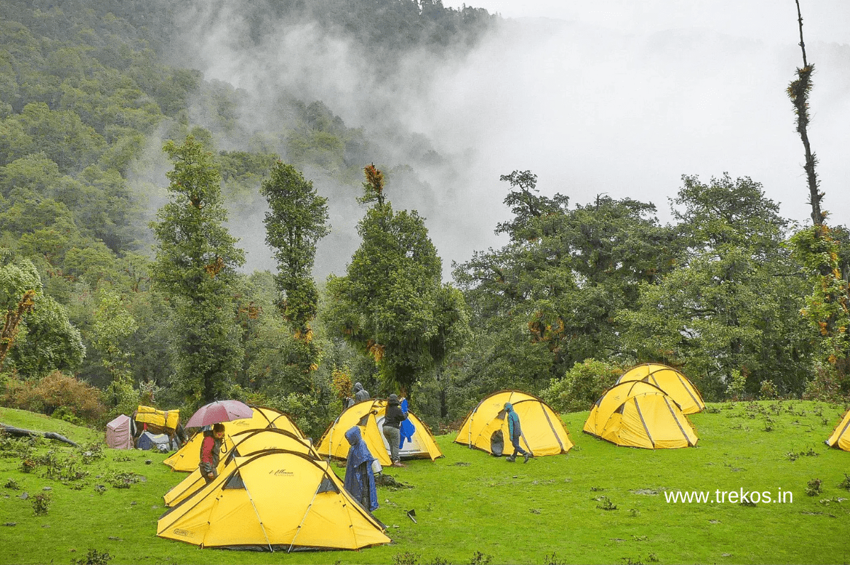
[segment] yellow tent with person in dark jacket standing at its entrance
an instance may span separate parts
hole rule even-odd
[[[348,457],[348,449],[351,444],[345,439],[345,432],[354,425],[360,426],[360,435],[366,442],[371,454],[385,467],[393,464],[389,458],[389,444],[383,437],[383,419],[387,414],[387,401],[382,399],[364,400],[357,402],[343,410],[343,414],[328,426],[325,435],[322,436],[316,451],[320,455],[345,459]],[[402,458],[428,458],[433,461],[443,456],[443,452],[437,447],[433,440],[431,430],[421,419],[412,412],[407,413],[407,419],[416,427],[411,441],[405,441],[399,456]]]

